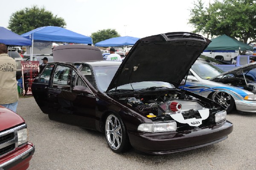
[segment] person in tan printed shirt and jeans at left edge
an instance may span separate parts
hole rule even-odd
[[[0,105],[16,112],[18,89],[16,80],[17,66],[9,57],[6,44],[0,43]]]

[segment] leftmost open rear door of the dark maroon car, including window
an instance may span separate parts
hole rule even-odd
[[[48,103],[48,87],[51,82],[50,75],[54,64],[48,64],[44,67],[44,70],[39,74],[33,84],[32,93],[42,112],[48,114],[50,112]]]

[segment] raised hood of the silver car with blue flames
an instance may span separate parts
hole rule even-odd
[[[243,75],[243,73],[246,74],[247,72],[249,72],[252,69],[256,69],[256,62],[249,63],[249,64],[246,64],[244,66],[240,66],[240,67],[235,68],[235,69],[231,69],[230,71],[224,72],[220,75],[217,75],[214,78],[210,78],[209,80],[214,80],[214,79],[216,79],[216,78],[218,78],[222,75],[228,75],[228,74]],[[256,70],[254,71],[254,73],[256,73]]]

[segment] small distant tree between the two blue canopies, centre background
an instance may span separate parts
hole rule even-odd
[[[97,32],[93,32],[91,37],[93,39],[93,43],[96,44],[109,38],[120,37],[120,35],[115,29],[102,29]]]

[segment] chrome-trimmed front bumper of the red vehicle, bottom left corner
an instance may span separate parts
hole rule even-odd
[[[0,170],[26,170],[35,152],[35,146],[27,143],[19,150],[0,158]]]

